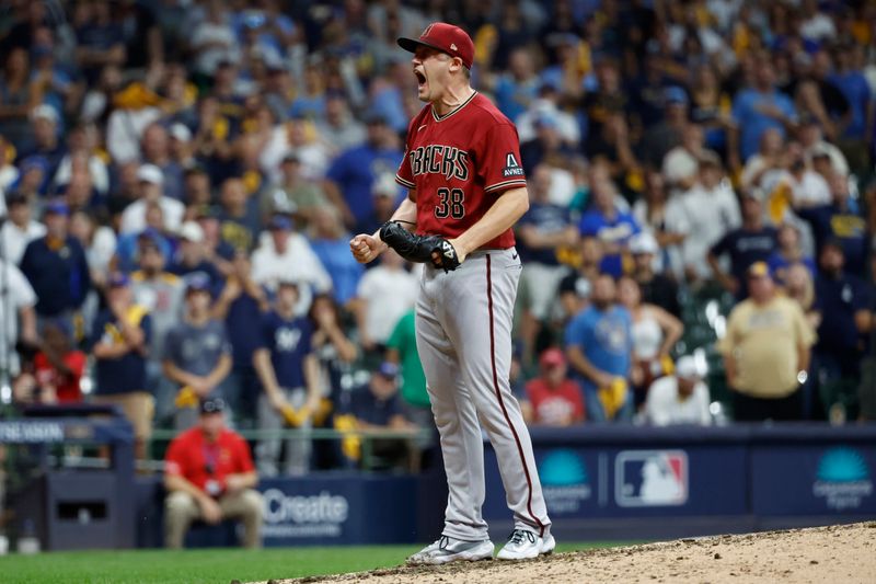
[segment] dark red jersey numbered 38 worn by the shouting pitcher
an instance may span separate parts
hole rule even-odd
[[[526,186],[517,128],[477,92],[443,116],[428,104],[407,128],[395,180],[416,191],[417,233],[459,237],[504,191]],[[484,248],[512,245],[508,229]]]

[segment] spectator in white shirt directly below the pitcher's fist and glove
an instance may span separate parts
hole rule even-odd
[[[380,265],[368,270],[359,280],[353,305],[366,351],[387,344],[395,323],[413,308],[419,291],[417,276],[404,268],[401,255],[390,249],[380,259]]]

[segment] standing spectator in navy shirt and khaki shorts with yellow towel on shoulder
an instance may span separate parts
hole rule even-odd
[[[106,309],[92,327],[95,403],[118,405],[134,426],[134,450],[147,456],[152,433],[154,399],[148,391],[146,363],[152,319],[134,301],[128,276],[113,273],[107,280]]]

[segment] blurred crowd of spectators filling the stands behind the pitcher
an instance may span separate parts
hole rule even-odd
[[[395,38],[438,20],[520,136],[532,424],[876,416],[868,0],[4,2],[4,403],[118,404],[140,456],[207,396],[428,427],[417,266],[348,241],[405,195]],[[357,456],[296,444],[260,473]]]

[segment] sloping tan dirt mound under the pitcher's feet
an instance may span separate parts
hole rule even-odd
[[[268,584],[550,582],[874,583],[876,522],[558,553],[527,562],[393,568]]]

